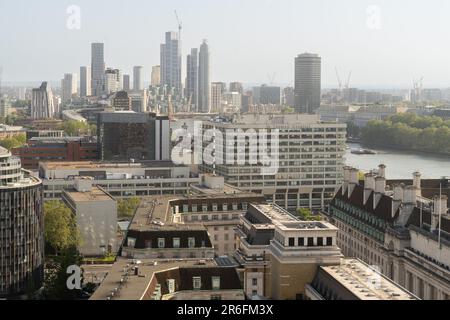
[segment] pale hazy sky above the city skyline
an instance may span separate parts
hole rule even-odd
[[[67,8],[81,9],[81,29],[67,28]],[[90,43],[105,43],[107,66],[159,64],[164,32],[183,20],[183,63],[208,39],[213,81],[289,84],[294,58],[322,57],[322,82],[337,86],[450,87],[448,0],[0,0],[4,81],[59,80],[90,64]],[[184,75],[183,75],[184,77]]]

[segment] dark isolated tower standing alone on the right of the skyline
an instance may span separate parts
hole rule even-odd
[[[304,53],[295,58],[295,109],[314,113],[320,107],[321,64],[317,54]]]

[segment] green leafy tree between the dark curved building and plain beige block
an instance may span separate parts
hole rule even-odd
[[[44,222],[45,241],[56,255],[81,244],[75,216],[63,202],[49,201],[44,204]]]

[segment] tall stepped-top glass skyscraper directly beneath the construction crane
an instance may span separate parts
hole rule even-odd
[[[166,43],[161,44],[161,84],[174,87],[182,95],[181,41],[177,32],[166,32]]]

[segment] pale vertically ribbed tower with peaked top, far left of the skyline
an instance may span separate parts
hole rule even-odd
[[[47,82],[42,82],[39,88],[33,89],[31,94],[31,118],[49,119],[55,115],[53,94]]]

